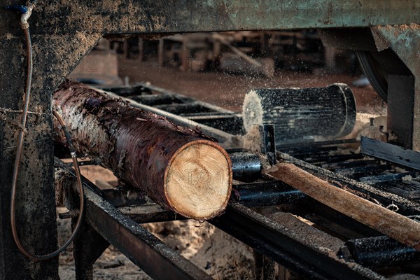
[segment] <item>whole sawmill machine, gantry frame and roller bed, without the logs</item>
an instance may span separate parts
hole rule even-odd
[[[99,190],[80,177],[76,161],[73,164],[76,168],[71,169],[54,157],[52,93],[101,38],[127,34],[165,36],[195,31],[311,28],[318,29],[325,45],[357,50],[367,77],[387,103],[388,130],[398,137],[394,143],[398,146],[362,139],[360,153],[338,155],[333,151],[337,151],[342,140],[276,144],[274,126],[262,124],[258,127],[259,153],[270,164],[276,160],[291,162],[311,176],[329,182],[330,186],[345,185],[351,195],[376,201],[377,205],[394,205],[402,217],[399,220],[409,220],[405,225],[413,225],[407,228],[407,239],[415,239],[414,220],[420,211],[416,190],[419,183],[414,180],[419,176],[420,165],[419,1],[17,2],[0,1],[5,7],[0,12],[0,279],[58,279],[57,253],[42,261],[29,258],[57,250],[55,166],[68,170],[69,176],[61,181],[66,206],[73,211],[82,208],[78,221],[77,215],[69,215],[75,220],[75,228],[80,227],[74,244],[77,279],[92,279],[92,264],[109,244],[153,278],[209,278],[139,225],[179,218],[171,209],[151,206],[146,203],[144,193],[130,186],[127,186],[129,190]],[[236,143],[233,136],[242,127],[235,113],[196,101],[192,105],[195,109],[197,104],[207,107],[213,116],[195,114],[187,118],[182,113],[170,112],[176,109],[176,106],[170,109],[174,102],[166,103],[167,111],[137,102],[136,98],[153,99],[143,97],[142,90],[136,92],[138,88],[147,87],[104,90],[113,91],[121,98],[128,96],[126,101],[132,106],[164,116],[175,125],[197,124],[204,134],[221,143],[228,139],[231,144]],[[165,90],[151,86],[148,90],[186,103],[185,99]],[[97,106],[95,99],[87,103]],[[57,119],[60,120],[59,115]],[[69,124],[61,125],[64,131],[66,126]],[[72,147],[70,143],[69,146]],[[219,150],[216,144],[214,148],[225,158],[223,149]],[[357,213],[344,216],[328,202],[319,202],[303,190],[292,188],[293,182],[283,183],[285,178],[254,181],[261,179],[261,164],[255,153],[235,145],[223,148],[230,154],[233,179],[239,181],[233,188],[240,199],[232,196],[225,213],[209,220],[216,227],[270,260],[311,278],[383,279],[388,275],[384,269],[390,266],[398,272],[409,269],[409,273],[419,275],[414,266],[419,260],[418,244],[412,239],[402,244],[406,240],[386,230],[392,224],[388,223],[384,230],[365,222]],[[75,151],[71,152],[75,158]],[[238,168],[242,165],[244,168]],[[275,170],[269,174],[280,176]],[[298,174],[302,178],[308,176]],[[78,192],[77,186],[82,185]],[[406,185],[409,188],[404,188]],[[83,195],[79,195],[83,189],[84,201]],[[297,223],[294,216],[279,215],[274,219],[251,209],[267,205],[280,205],[279,209],[298,216],[313,214],[312,218],[318,218],[319,224],[328,220],[336,226],[316,231],[309,225],[299,224],[300,230],[293,232],[290,228]],[[81,215],[83,206],[84,216]],[[127,206],[137,210],[137,214],[118,209]],[[352,231],[343,233],[337,229],[343,227]],[[22,254],[22,248],[27,250],[26,254]]]

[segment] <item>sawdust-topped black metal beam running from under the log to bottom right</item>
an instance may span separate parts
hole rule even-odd
[[[342,242],[335,237],[315,230],[290,214],[281,214],[281,224],[276,222],[232,202],[223,216],[210,221],[263,255],[310,279],[384,279],[370,269],[339,260],[332,253],[334,249],[328,248]],[[324,244],[319,244],[320,240]]]

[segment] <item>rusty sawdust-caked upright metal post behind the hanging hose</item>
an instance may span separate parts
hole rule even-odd
[[[1,6],[6,2],[1,1]],[[0,280],[58,279],[58,258],[42,262],[25,258],[15,246],[10,230],[10,188],[27,64],[25,38],[18,17],[1,8],[0,22]],[[20,163],[16,218],[23,246],[30,253],[46,254],[57,249],[51,94],[102,34],[86,34],[83,38],[86,43],[81,45],[80,38],[74,34],[45,36],[37,34],[35,26],[30,27],[34,76]],[[66,45],[65,52],[53,51],[63,45]]]

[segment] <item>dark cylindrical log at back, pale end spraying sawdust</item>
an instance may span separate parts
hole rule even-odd
[[[356,123],[356,100],[344,83],[328,87],[260,88],[248,92],[242,106],[244,128],[273,124],[276,142],[303,137],[338,138]]]

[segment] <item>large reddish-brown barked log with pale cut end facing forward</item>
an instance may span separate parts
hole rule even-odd
[[[230,158],[198,128],[174,125],[71,80],[53,94],[52,108],[71,128],[80,155],[101,162],[162,207],[199,221],[223,213],[232,188]]]

